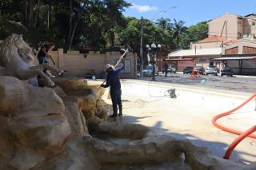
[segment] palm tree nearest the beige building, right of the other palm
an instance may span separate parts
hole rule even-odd
[[[173,38],[176,38],[177,41],[177,45],[179,45],[179,38],[181,36],[181,34],[186,32],[186,26],[184,26],[185,22],[183,21],[176,21],[176,19],[174,19],[174,23],[171,23],[171,27],[173,30]]]

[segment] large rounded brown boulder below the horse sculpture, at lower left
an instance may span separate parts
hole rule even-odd
[[[30,169],[65,149],[70,125],[52,89],[0,77],[0,169]]]

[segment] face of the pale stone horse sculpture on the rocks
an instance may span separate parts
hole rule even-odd
[[[27,45],[26,42],[24,42],[22,35],[18,35],[14,38],[14,42],[16,47],[18,48],[18,54],[22,59],[26,62],[34,61],[34,53],[32,49],[30,48],[30,45]]]

